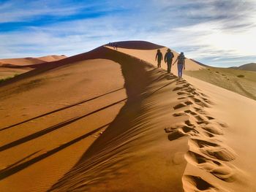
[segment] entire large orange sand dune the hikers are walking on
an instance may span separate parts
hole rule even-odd
[[[157,49],[105,45],[1,83],[0,191],[255,191],[256,101],[157,69]]]

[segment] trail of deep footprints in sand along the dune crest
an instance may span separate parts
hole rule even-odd
[[[189,151],[185,158],[190,166],[195,166],[208,172],[219,180],[232,183],[236,180],[236,167],[232,161],[236,153],[222,142],[225,123],[219,123],[204,111],[205,107],[211,107],[211,99],[197,91],[186,80],[177,82],[179,87],[173,89],[178,95],[179,102],[173,109],[174,117],[187,116],[187,120],[165,128],[168,139],[173,141],[181,137],[189,137]],[[182,93],[182,94],[181,94]],[[185,169],[182,177],[184,191],[227,191],[222,186],[207,182],[195,174],[190,174]]]

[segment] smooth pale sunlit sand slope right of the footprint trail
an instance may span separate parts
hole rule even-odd
[[[202,174],[203,177],[211,184],[219,183],[220,186],[227,188],[229,191],[255,191],[256,155],[254,152],[256,151],[256,101],[241,96],[238,93],[219,88],[216,85],[211,85],[208,82],[197,80],[193,77],[186,77],[186,80],[209,96],[208,99],[210,99],[214,105],[211,108],[206,108],[206,112],[216,118],[219,123],[223,122],[226,125],[224,127],[222,127],[223,125],[208,126],[209,128],[214,128],[215,131],[221,130],[223,134],[222,138],[217,138],[222,141],[217,142],[219,145],[217,147],[227,149],[227,158],[219,161],[221,164],[214,165],[211,169],[214,172],[219,171],[221,174],[219,174],[218,177],[224,182],[209,180],[207,174]],[[225,153],[222,154],[224,155]],[[233,158],[230,158],[231,156],[233,156]],[[227,161],[228,158],[232,161]],[[192,169],[195,169],[195,166],[203,170],[208,169],[206,164],[199,166],[199,164],[195,164],[195,161],[193,162],[191,159],[189,162],[194,166]],[[189,169],[187,170],[185,174],[190,171]]]

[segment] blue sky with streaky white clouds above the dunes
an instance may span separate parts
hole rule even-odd
[[[0,0],[0,58],[144,40],[210,66],[256,62],[256,0]]]

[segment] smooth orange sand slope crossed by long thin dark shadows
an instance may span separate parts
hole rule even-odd
[[[102,59],[20,80],[1,88],[0,96],[0,191],[46,191],[127,97],[120,66]]]

